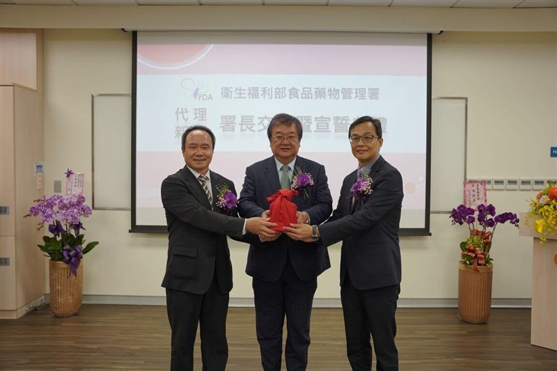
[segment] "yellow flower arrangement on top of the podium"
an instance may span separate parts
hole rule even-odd
[[[557,230],[557,184],[547,184],[535,198],[530,200],[530,210],[526,215],[526,225],[533,223],[536,232],[540,233],[540,244]]]

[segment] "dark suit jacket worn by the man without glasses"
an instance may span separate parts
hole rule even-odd
[[[213,202],[226,184],[236,194],[234,183],[210,172]],[[214,211],[201,184],[185,166],[162,182],[162,205],[168,226],[168,258],[162,287],[204,294],[217,269],[221,292],[232,290],[232,264],[226,235],[241,237],[244,219]]]

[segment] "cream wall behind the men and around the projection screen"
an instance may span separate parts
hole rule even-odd
[[[555,159],[549,159],[557,138],[557,33],[445,32],[433,37],[432,63],[434,97],[469,97],[469,177],[557,175]],[[53,181],[68,167],[91,174],[91,94],[131,93],[131,65],[130,33],[45,30],[45,194],[52,194]],[[533,195],[489,191],[488,200],[499,211],[519,212]],[[91,176],[86,197],[91,199]],[[86,237],[100,242],[86,255],[84,294],[164,296],[166,235],[128,233],[130,212],[95,210],[84,224]],[[457,297],[458,244],[466,228],[436,214],[431,231],[431,237],[401,239],[402,299]],[[231,297],[253,297],[244,274],[247,245],[231,242],[230,248]],[[531,297],[531,241],[503,225],[492,253],[493,297]],[[338,298],[339,246],[330,254],[333,267],[320,276],[317,298]]]

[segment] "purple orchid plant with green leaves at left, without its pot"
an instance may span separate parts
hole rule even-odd
[[[27,216],[39,216],[38,230],[45,224],[53,237],[43,236],[45,244],[37,245],[42,252],[52,260],[65,262],[70,267],[71,274],[77,276],[77,268],[83,255],[91,251],[98,242],[89,242],[84,246],[85,230],[81,218],[92,214],[91,207],[85,204],[85,197],[81,195],[62,196],[55,194],[49,198],[42,196],[35,200],[36,205],[29,207]]]

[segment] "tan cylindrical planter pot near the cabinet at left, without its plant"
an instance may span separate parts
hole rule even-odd
[[[83,299],[83,260],[77,276],[65,262],[49,260],[50,310],[56,317],[69,317],[79,312]]]

